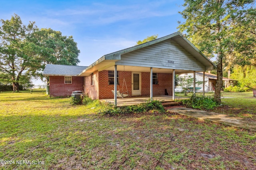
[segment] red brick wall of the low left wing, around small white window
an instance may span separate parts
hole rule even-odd
[[[50,96],[71,96],[73,91],[83,91],[84,78],[72,76],[72,84],[64,83],[64,76],[50,76]]]

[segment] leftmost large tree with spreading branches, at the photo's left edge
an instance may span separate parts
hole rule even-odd
[[[19,91],[22,73],[28,74],[30,69],[40,66],[40,57],[36,55],[37,48],[34,43],[28,41],[37,27],[34,22],[30,22],[28,26],[23,25],[16,14],[11,20],[1,20],[1,23],[0,72],[5,74],[5,78],[7,75],[10,77],[15,92]],[[1,79],[4,80],[2,77]]]

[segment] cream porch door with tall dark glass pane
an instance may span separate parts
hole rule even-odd
[[[132,72],[132,96],[141,95],[141,73]]]

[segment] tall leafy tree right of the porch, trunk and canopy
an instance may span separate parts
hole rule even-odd
[[[230,51],[229,45],[234,43],[231,25],[241,18],[235,18],[252,9],[254,0],[185,0],[185,9],[180,12],[186,20],[180,24],[180,31],[186,31],[188,38],[203,53],[217,58],[217,82],[214,99],[220,100],[222,88],[222,65]],[[248,19],[249,20],[249,19]],[[244,30],[245,31],[245,30]]]

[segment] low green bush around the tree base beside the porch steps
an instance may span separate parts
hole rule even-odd
[[[182,100],[182,105],[194,109],[214,109],[218,103],[214,100],[213,96],[196,96],[192,95],[190,99]]]

